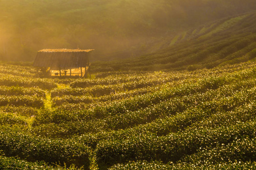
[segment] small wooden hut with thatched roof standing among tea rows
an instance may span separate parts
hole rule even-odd
[[[38,51],[33,66],[51,76],[86,76],[93,49],[43,49]]]

